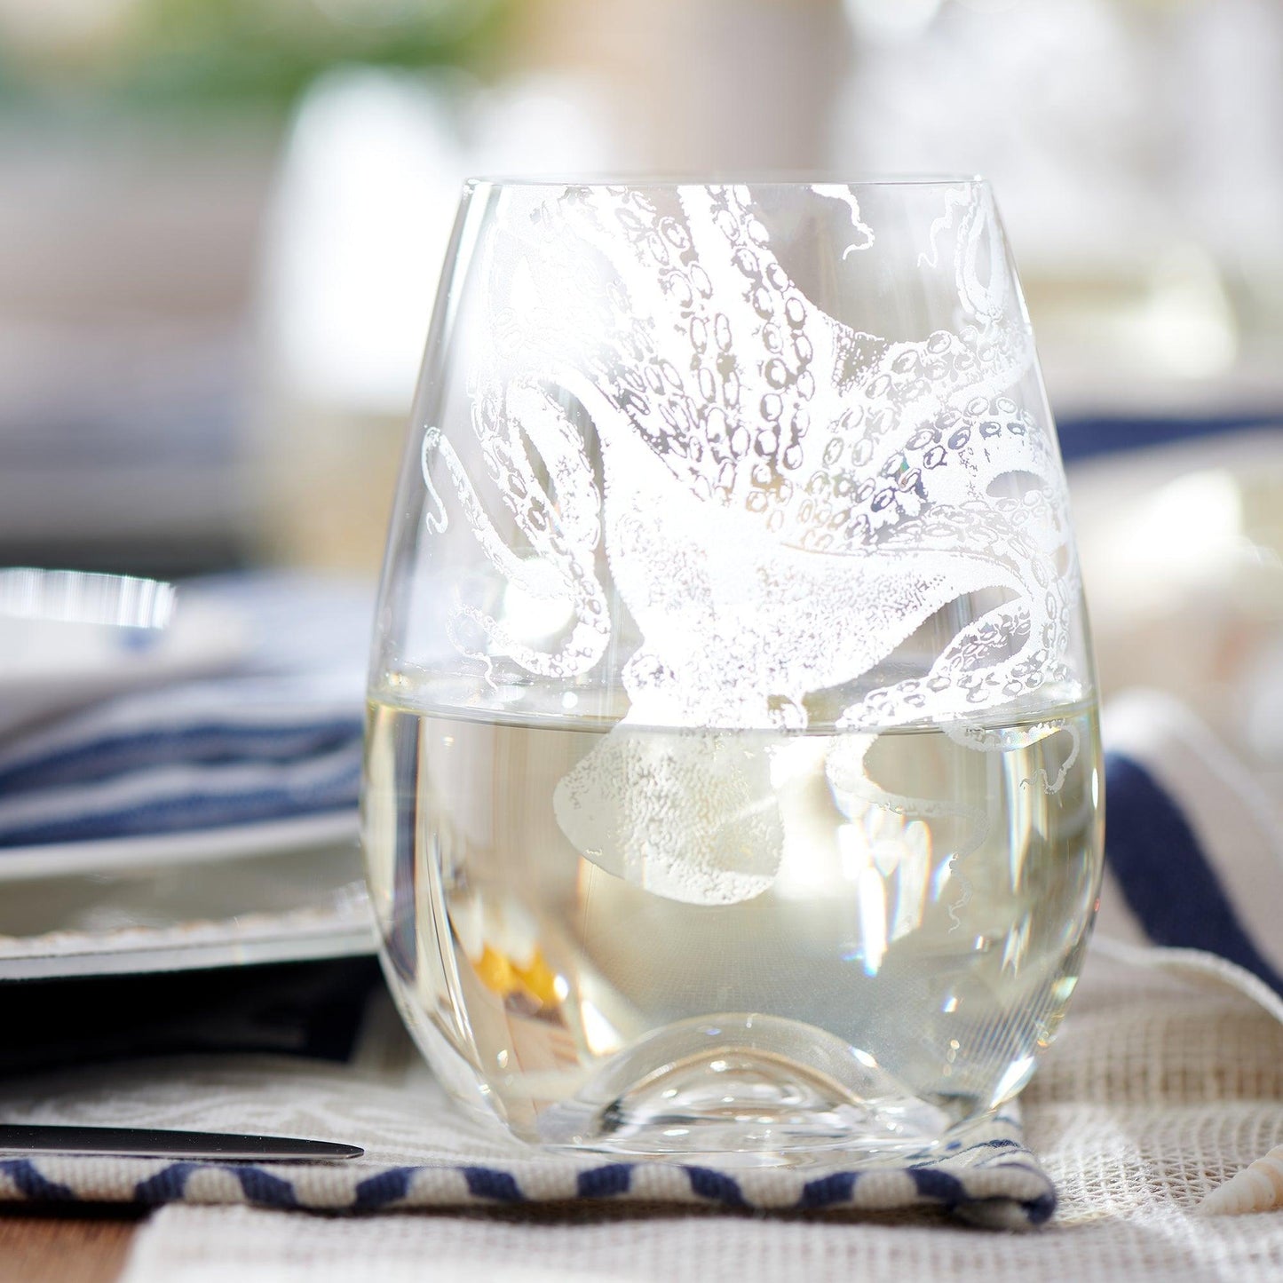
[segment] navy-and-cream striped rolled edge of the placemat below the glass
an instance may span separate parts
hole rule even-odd
[[[990,1134],[992,1133],[992,1134]],[[903,1168],[722,1169],[549,1155],[516,1162],[396,1165],[217,1164],[77,1157],[0,1159],[0,1201],[250,1203],[289,1211],[377,1212],[532,1203],[640,1203],[726,1211],[949,1211],[990,1229],[1032,1229],[1056,1193],[1011,1119],[958,1152]]]

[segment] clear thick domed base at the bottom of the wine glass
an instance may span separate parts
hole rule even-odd
[[[544,1110],[544,1144],[744,1166],[897,1162],[957,1121],[812,1025],[721,1015],[668,1025]]]

